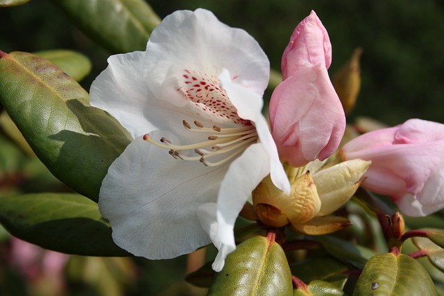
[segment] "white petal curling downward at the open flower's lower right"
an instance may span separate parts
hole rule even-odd
[[[234,223],[251,191],[270,173],[269,161],[264,147],[253,144],[232,162],[223,178],[217,200],[217,235],[222,243],[213,265],[216,271],[222,270],[225,257],[236,249]]]

